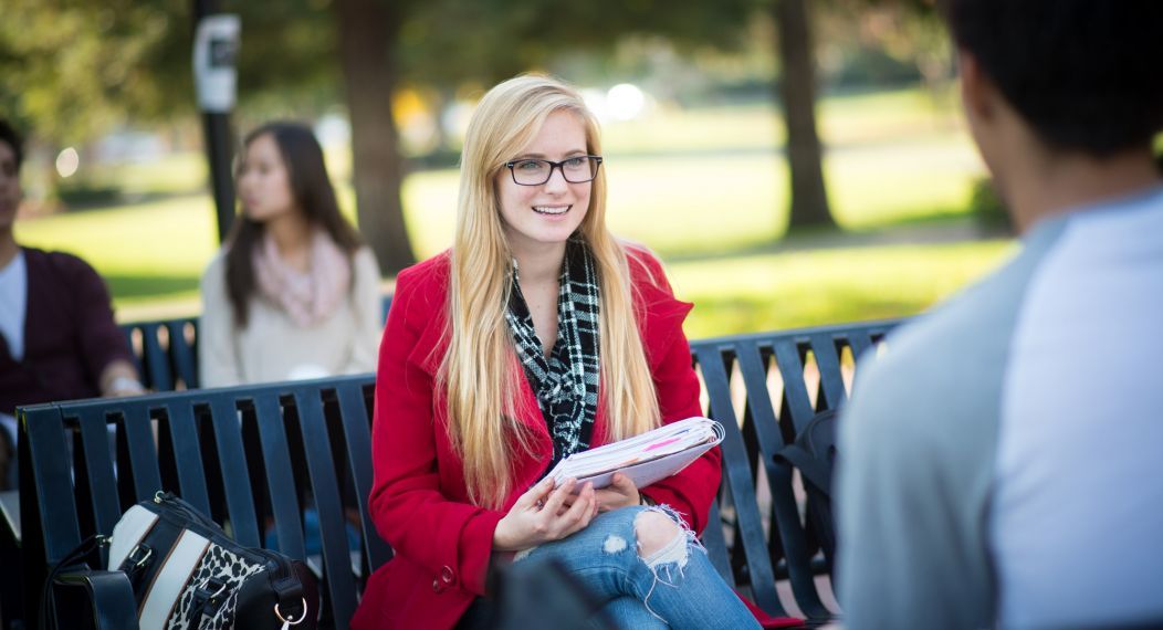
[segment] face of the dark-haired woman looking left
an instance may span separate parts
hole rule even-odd
[[[298,212],[291,173],[271,134],[263,134],[247,145],[238,170],[238,199],[247,216],[261,223]]]

